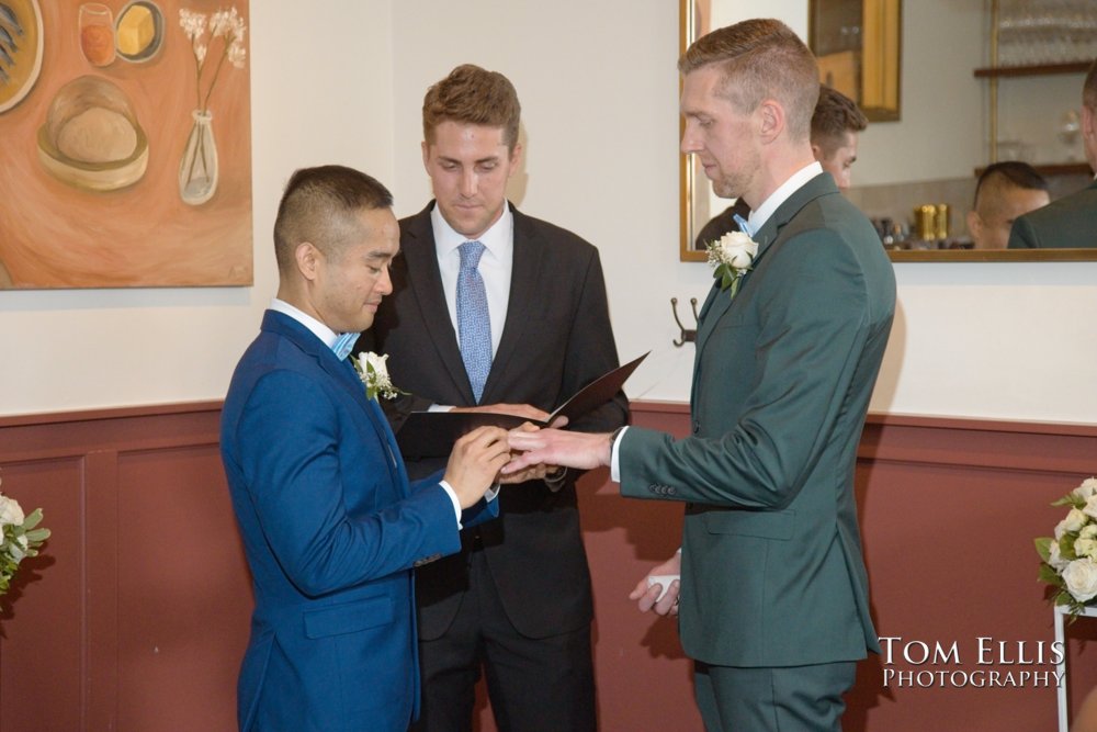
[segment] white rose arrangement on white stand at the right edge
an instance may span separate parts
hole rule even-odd
[[[1072,617],[1097,605],[1097,478],[1089,477],[1052,506],[1070,506],[1053,537],[1039,537],[1040,582],[1055,588],[1052,600]]]

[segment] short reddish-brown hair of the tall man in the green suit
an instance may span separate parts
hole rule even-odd
[[[792,29],[771,18],[719,29],[690,45],[678,59],[678,70],[688,75],[714,64],[723,72],[719,93],[740,112],[776,99],[784,106],[790,137],[810,138],[819,97],[818,65]]]

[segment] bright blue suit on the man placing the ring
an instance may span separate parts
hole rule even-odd
[[[256,597],[240,729],[406,730],[411,568],[461,548],[439,475],[409,484],[353,368],[274,312],[233,375],[222,458]],[[477,508],[463,520],[496,506]]]

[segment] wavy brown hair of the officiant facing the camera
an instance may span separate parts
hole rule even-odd
[[[443,122],[502,127],[502,138],[511,153],[518,144],[522,105],[510,79],[464,64],[431,85],[422,99],[422,137],[434,142],[434,127]]]

